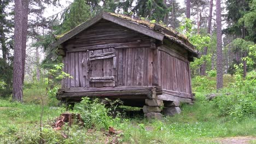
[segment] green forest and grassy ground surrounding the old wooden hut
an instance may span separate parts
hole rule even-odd
[[[70,75],[51,44],[101,11],[188,38],[202,54],[190,62],[193,103],[160,120],[119,100],[58,104]],[[0,0],[0,143],[255,143],[255,43],[256,0]],[[61,113],[83,124],[56,129]]]

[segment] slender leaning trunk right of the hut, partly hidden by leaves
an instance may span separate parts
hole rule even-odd
[[[208,17],[208,26],[207,26],[207,33],[210,35],[211,33],[211,27],[212,27],[212,7],[213,7],[213,0],[210,1],[210,10],[209,10],[209,17]],[[203,49],[203,55],[207,55],[208,47],[204,47]],[[206,61],[203,62],[200,68],[200,74],[205,75],[206,73]]]

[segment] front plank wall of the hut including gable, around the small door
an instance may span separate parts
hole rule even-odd
[[[90,77],[106,76],[115,77],[115,86],[152,86],[153,50],[150,45],[148,36],[101,20],[63,44],[66,49],[63,70],[73,79],[62,80],[62,88],[113,86],[89,82]],[[88,65],[90,52],[94,55],[113,52],[115,59],[94,61],[91,70]],[[115,68],[111,69],[114,61]]]

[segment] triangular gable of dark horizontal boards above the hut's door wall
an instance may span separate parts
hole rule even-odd
[[[150,37],[147,35],[103,19],[63,44],[67,52],[149,46]]]

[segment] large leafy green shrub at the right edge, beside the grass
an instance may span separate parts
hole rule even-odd
[[[218,93],[214,102],[222,116],[233,118],[256,117],[256,71],[248,73],[243,79],[235,76],[236,81]]]

